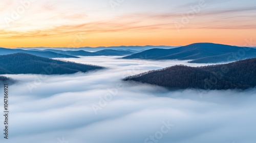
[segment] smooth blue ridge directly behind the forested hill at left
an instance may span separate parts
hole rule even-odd
[[[60,53],[55,53],[51,51],[30,51],[30,50],[22,50],[22,49],[0,48],[0,55],[15,54],[15,53],[27,53],[27,54],[32,54],[32,55],[45,57],[45,58],[79,58],[77,56],[60,54]]]

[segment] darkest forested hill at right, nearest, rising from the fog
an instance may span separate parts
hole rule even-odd
[[[126,77],[124,80],[169,89],[247,89],[256,86],[256,58],[203,67],[176,65]]]

